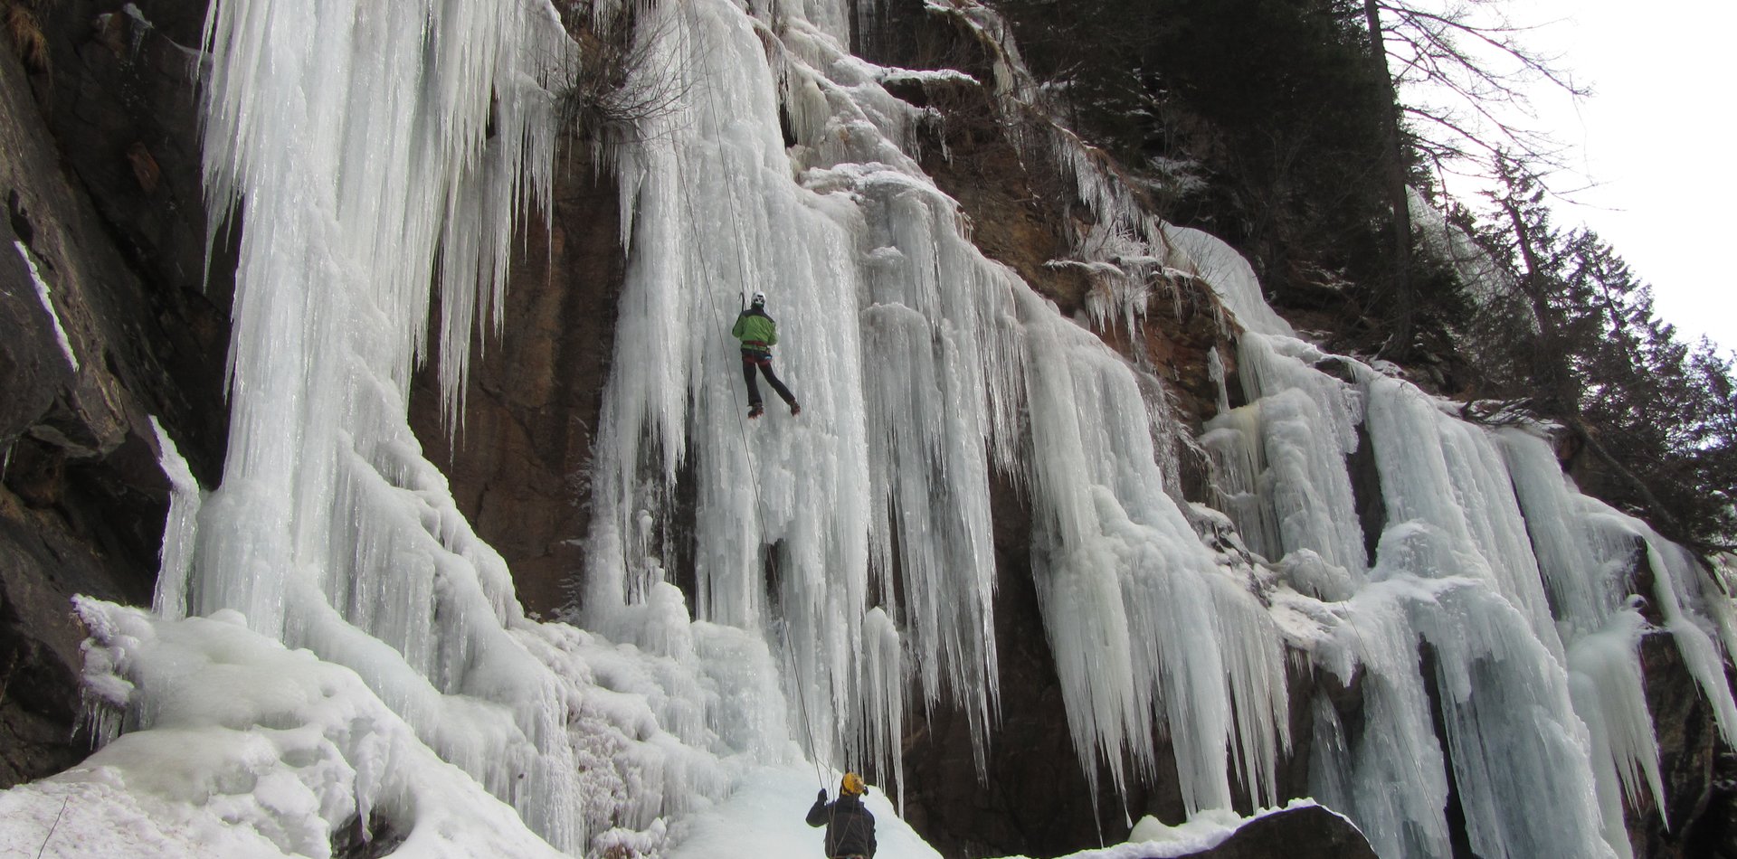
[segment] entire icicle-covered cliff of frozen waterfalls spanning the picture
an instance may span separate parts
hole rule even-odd
[[[563,9],[214,5],[208,186],[248,224],[233,441],[221,486],[177,481],[160,620],[83,607],[104,654],[92,692],[139,738],[96,770],[142,770],[156,758],[123,751],[174,731],[234,732],[245,743],[214,746],[186,783],[274,784],[295,800],[219,817],[314,854],[370,814],[412,840],[431,836],[434,809],[457,809],[466,835],[512,819],[457,788],[417,795],[419,779],[479,784],[566,852],[679,842],[679,821],[757,764],[902,784],[919,706],[948,698],[980,755],[995,741],[995,474],[1030,500],[1070,736],[1112,786],[1174,767],[1190,812],[1238,791],[1277,803],[1296,739],[1287,652],[1303,652],[1362,696],[1355,724],[1310,703],[1311,793],[1383,856],[1450,856],[1450,779],[1480,856],[1626,856],[1622,797],[1661,793],[1636,564],[1732,736],[1730,609],[1687,552],[1575,493],[1537,434],[1468,423],[1296,338],[1233,250],[1141,212],[1056,134],[1034,151],[1068,165],[1101,226],[1077,260],[1112,286],[1096,323],[1136,325],[1141,288],[1169,271],[1249,328],[1249,404],[1200,439],[1207,502],[1240,536],[1202,541],[1212,517],[1178,489],[1188,432],[1162,382],[973,246],[914,158],[935,116],[882,87],[907,73],[842,49],[846,3],[637,9],[651,61],[631,85],[669,97],[610,149],[631,264],[585,592],[577,626],[526,620],[403,413],[427,285],[457,392],[471,331],[500,300],[512,217],[547,200],[552,94],[580,62]],[[936,14],[1006,45],[983,7]],[[1016,52],[1002,59],[985,85],[1028,92]],[[728,328],[754,290],[789,331],[778,363],[797,420],[742,420]],[[1353,455],[1377,470],[1379,533],[1358,524]],[[691,536],[677,495],[693,500]],[[691,593],[667,581],[683,540]],[[170,623],[182,616],[205,620]],[[361,684],[254,654],[240,625]],[[306,699],[195,720],[167,703],[200,675],[158,670],[188,647],[214,663],[247,651]],[[328,696],[379,706],[314,703]],[[307,736],[271,734],[287,729]],[[174,779],[116,777],[207,810],[252,795],[195,802]],[[453,850],[519,843],[502,838]]]

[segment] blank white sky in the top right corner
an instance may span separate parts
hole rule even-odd
[[[1558,226],[1584,222],[1654,286],[1659,316],[1692,340],[1737,351],[1732,201],[1725,153],[1737,134],[1727,89],[1737,3],[1694,0],[1511,0],[1515,23],[1549,23],[1527,43],[1558,54],[1577,108],[1541,99],[1541,127],[1574,146],[1574,167],[1596,187],[1556,207]],[[1569,187],[1569,182],[1560,182]]]

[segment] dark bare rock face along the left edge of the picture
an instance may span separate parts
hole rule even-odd
[[[68,600],[151,599],[168,491],[151,418],[205,481],[226,425],[193,64],[135,17],[38,5],[45,50],[0,50],[0,786],[89,751]]]

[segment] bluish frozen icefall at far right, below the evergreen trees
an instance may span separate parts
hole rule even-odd
[[[1624,798],[1662,798],[1640,600],[1730,731],[1714,668],[1730,600],[1709,573],[1581,496],[1549,427],[1461,420],[1456,403],[1289,337],[1245,331],[1238,364],[1251,403],[1202,439],[1219,496],[1294,592],[1278,602],[1308,604],[1324,630],[1325,644],[1294,644],[1362,696],[1355,727],[1315,705],[1317,798],[1381,856],[1452,854],[1449,783],[1478,856],[1629,856]],[[1379,496],[1360,503],[1348,469],[1362,444]],[[1384,524],[1365,566],[1369,502]],[[1638,569],[1650,593],[1631,595]]]

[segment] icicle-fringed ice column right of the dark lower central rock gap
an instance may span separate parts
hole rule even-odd
[[[1230,807],[1233,743],[1251,790],[1268,797],[1273,755],[1289,744],[1277,628],[1247,581],[1225,587],[1232,573],[1162,493],[1145,420],[1112,408],[1138,401],[1126,364],[1082,349],[1094,338],[1035,298],[1021,311],[1034,574],[1087,774],[1098,758],[1120,788],[1126,750],[1152,776],[1152,731],[1167,724],[1190,812]],[[1238,732],[1237,717],[1271,727]]]

